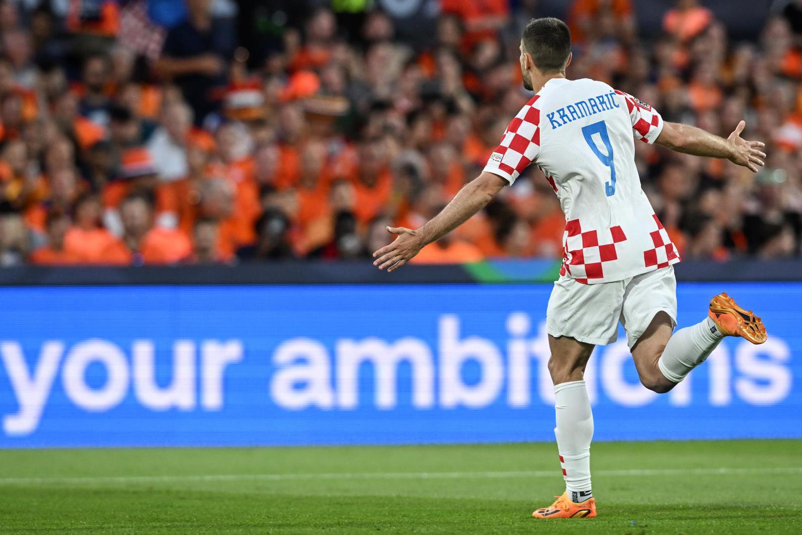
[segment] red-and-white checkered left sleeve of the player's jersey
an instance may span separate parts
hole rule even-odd
[[[529,164],[537,160],[541,151],[541,111],[535,105],[538,98],[539,95],[535,95],[520,108],[484,166],[484,171],[504,178],[511,185]]]

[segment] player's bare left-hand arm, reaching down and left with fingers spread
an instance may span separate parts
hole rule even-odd
[[[373,265],[378,265],[379,270],[387,268],[387,272],[399,269],[423,249],[424,245],[439,240],[468,221],[468,218],[496,197],[505,185],[507,180],[492,172],[483,172],[475,180],[465,184],[443,211],[432,217],[426,225],[415,230],[387,227],[388,232],[398,234],[399,237],[373,253]]]

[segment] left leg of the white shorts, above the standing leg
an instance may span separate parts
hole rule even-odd
[[[546,310],[546,332],[554,338],[606,345],[618,337],[625,283],[581,284],[561,277],[554,282]]]

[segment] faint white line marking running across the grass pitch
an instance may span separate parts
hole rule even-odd
[[[593,476],[738,476],[748,474],[799,474],[802,467],[779,468],[644,468],[594,470]],[[208,476],[97,476],[97,477],[2,477],[4,484],[180,483],[182,481],[294,481],[375,479],[484,479],[505,477],[556,477],[554,470],[510,472],[343,472],[320,474],[227,474]]]

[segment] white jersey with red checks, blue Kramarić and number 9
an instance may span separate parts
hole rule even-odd
[[[512,184],[537,164],[565,213],[561,275],[614,282],[679,261],[641,188],[634,137],[662,131],[648,104],[603,82],[550,79],[509,124],[484,171]]]

